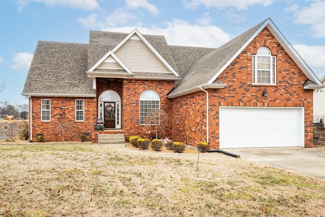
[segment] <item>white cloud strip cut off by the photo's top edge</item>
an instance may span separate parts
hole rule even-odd
[[[234,7],[238,10],[245,10],[248,6],[254,4],[261,4],[266,7],[271,5],[275,1],[277,0],[190,0],[190,2],[183,0],[186,8],[196,8],[202,4],[205,5],[207,8],[215,7],[223,9],[226,7]]]

